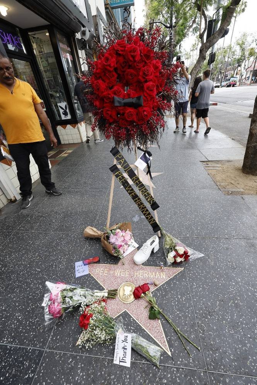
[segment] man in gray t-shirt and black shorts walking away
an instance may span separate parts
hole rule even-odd
[[[210,106],[211,94],[214,94],[214,84],[209,80],[211,70],[207,69],[203,72],[203,81],[198,84],[195,91],[195,96],[198,96],[197,100],[197,129],[194,131],[196,134],[199,133],[199,127],[201,118],[203,118],[206,124],[205,135],[210,132],[211,127],[209,126],[208,111]]]

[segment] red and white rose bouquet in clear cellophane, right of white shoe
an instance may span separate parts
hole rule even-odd
[[[165,253],[166,266],[183,261],[193,261],[204,256],[204,254],[199,251],[185,246],[185,244],[180,242],[178,239],[166,233],[163,228],[161,228],[161,234],[163,236],[163,250]]]

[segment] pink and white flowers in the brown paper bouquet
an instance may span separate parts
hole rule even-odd
[[[133,235],[129,229],[124,230],[120,229],[119,227],[116,227],[112,230],[107,230],[106,238],[113,246],[113,254],[119,258],[123,258],[123,255],[134,241]]]

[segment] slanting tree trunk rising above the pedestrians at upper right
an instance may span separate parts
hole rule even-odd
[[[197,76],[198,72],[200,71],[200,68],[202,67],[203,62],[206,59],[206,54],[210,47],[217,43],[217,41],[222,37],[223,33],[225,32],[226,28],[228,25],[230,25],[230,22],[232,20],[232,17],[235,13],[237,5],[241,0],[232,0],[230,5],[227,8],[227,15],[225,19],[223,20],[223,23],[220,25],[218,28],[217,32],[213,33],[213,35],[201,45],[200,47],[200,52],[199,52],[199,57],[197,59],[197,62],[195,63],[194,67],[192,68],[190,75],[191,75],[191,84],[195,80],[195,77]]]

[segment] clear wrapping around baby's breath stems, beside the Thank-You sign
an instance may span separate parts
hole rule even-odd
[[[117,334],[120,329],[124,333],[127,333],[123,326],[122,317],[119,317],[116,322],[117,323],[116,323],[115,333]],[[154,345],[153,343],[145,340],[143,337],[139,336],[138,334],[131,333],[131,347],[136,352],[138,352],[141,356],[146,358],[149,362],[153,363],[158,368],[160,368],[159,364],[161,359],[161,353],[163,352],[160,346]]]

